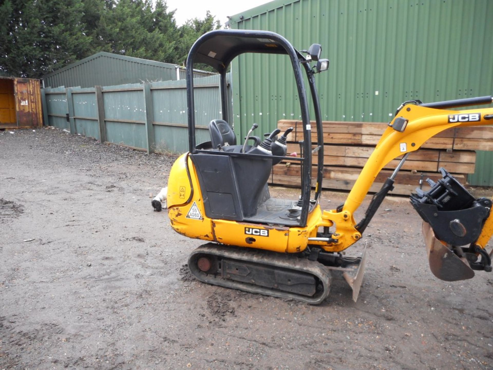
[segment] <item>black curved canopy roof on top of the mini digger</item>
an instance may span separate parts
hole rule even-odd
[[[188,58],[193,57],[193,63],[205,63],[223,72],[242,53],[297,54],[289,41],[274,32],[216,30],[195,41]]]

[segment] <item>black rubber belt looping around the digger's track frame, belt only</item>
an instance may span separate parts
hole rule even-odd
[[[317,277],[317,279],[322,283],[323,291],[316,293],[314,296],[303,296],[296,293],[284,292],[277,289],[224,279],[219,275],[214,276],[213,274],[207,274],[199,270],[194,260],[194,256],[197,254],[212,255],[220,258],[236,259],[245,262],[273,266],[274,268],[280,267],[307,272]],[[249,293],[262,294],[265,296],[296,299],[310,304],[321,303],[329,295],[332,282],[330,271],[317,261],[298,258],[296,255],[287,253],[283,254],[259,249],[226,246],[215,243],[207,243],[195,249],[188,258],[188,267],[190,268],[193,276],[203,283],[218,285],[225,288],[238,289]]]

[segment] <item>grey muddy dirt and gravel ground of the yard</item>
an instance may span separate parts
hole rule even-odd
[[[149,197],[173,161],[0,132],[0,369],[493,369],[493,274],[437,280],[406,198],[348,250],[369,252],[357,303],[340,282],[311,306],[188,274],[201,242]],[[325,192],[322,207],[345,196]]]

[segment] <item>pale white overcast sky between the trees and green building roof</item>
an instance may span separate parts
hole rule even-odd
[[[265,4],[271,0],[166,0],[170,10],[176,9],[175,19],[181,26],[187,19],[204,18],[207,10],[211,11],[221,25],[227,22],[228,15],[235,15],[244,10]]]

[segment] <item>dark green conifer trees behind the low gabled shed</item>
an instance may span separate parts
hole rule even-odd
[[[174,13],[165,0],[0,0],[0,74],[39,78],[100,51],[182,65],[221,25]]]

